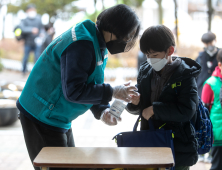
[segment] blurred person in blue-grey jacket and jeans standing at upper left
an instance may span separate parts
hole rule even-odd
[[[34,52],[34,62],[36,62],[41,54],[41,38],[39,37],[40,33],[43,30],[43,25],[40,15],[37,14],[36,7],[34,4],[29,4],[26,8],[27,18],[21,20],[19,24],[20,29],[24,38],[24,57],[23,57],[23,68],[22,72],[25,75],[27,71],[27,62],[29,59],[29,54],[31,51]]]

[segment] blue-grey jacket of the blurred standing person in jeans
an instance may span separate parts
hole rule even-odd
[[[35,46],[35,38],[39,36],[40,32],[43,30],[42,20],[41,16],[37,15],[35,18],[25,18],[21,20],[21,23],[19,24],[22,32],[25,34],[24,40],[26,45]],[[39,33],[33,34],[32,29],[38,28]]]

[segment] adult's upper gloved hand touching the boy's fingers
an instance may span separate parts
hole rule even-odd
[[[138,89],[135,86],[130,86],[130,82],[113,87],[113,97],[131,103],[132,95],[138,96],[139,93],[135,92]]]

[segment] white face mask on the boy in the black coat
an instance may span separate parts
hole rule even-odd
[[[166,59],[166,55],[163,59],[161,58],[148,58],[147,62],[153,67],[155,71],[160,71],[167,64],[168,60]]]

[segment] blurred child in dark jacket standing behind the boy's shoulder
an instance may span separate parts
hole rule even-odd
[[[211,76],[217,66],[218,48],[216,45],[216,35],[212,32],[203,34],[201,41],[204,44],[204,51],[199,53],[196,61],[201,65],[202,70],[197,78],[198,95],[201,97],[203,84]]]

